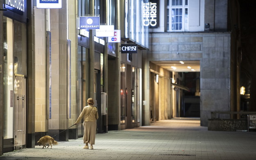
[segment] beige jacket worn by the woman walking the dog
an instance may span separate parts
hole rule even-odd
[[[88,115],[88,113],[90,114]],[[93,105],[91,104],[89,104],[88,106],[85,106],[80,116],[77,118],[77,121],[75,122],[75,124],[79,124],[82,118],[84,119],[84,122],[96,122],[96,120],[99,118],[97,108],[93,107]]]

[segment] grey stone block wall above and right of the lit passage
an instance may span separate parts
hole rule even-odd
[[[230,111],[230,33],[152,33],[150,36],[148,61],[200,61],[202,126],[208,125],[211,111]]]

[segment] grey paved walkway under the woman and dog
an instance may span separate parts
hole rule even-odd
[[[208,131],[195,118],[96,134],[94,149],[82,138],[52,149],[20,149],[0,160],[256,160],[256,132]]]

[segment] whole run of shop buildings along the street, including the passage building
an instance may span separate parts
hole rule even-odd
[[[33,148],[45,135],[83,136],[82,124],[70,126],[90,97],[97,133],[176,117],[207,126],[211,111],[240,111],[239,22],[228,13],[236,2],[39,2],[0,0],[1,154]],[[113,37],[81,29],[86,16],[113,26]]]

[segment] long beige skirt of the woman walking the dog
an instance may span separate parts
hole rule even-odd
[[[84,122],[84,143],[95,144],[96,122]]]

